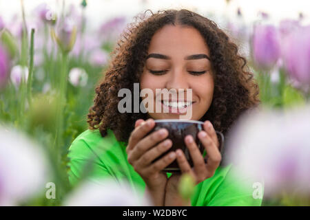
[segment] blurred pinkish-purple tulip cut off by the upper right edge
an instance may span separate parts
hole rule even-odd
[[[310,85],[310,26],[285,38],[282,56],[289,75],[302,85]]]

